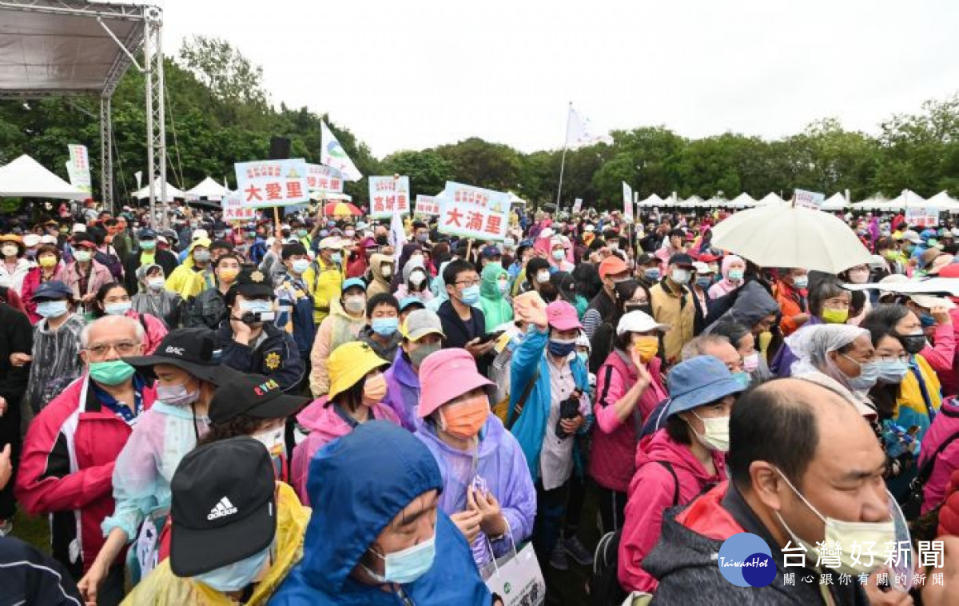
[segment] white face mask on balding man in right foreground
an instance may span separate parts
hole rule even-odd
[[[852,546],[856,544],[874,545],[878,548],[880,545],[885,545],[886,543],[895,544],[896,524],[893,520],[889,520],[888,522],[844,522],[842,520],[824,517],[819,513],[819,510],[812,506],[812,503],[806,500],[806,497],[804,497],[802,493],[796,490],[796,487],[792,485],[792,482],[786,478],[783,472],[779,471],[779,469],[776,471],[779,472],[779,475],[782,476],[789,488],[796,493],[796,496],[802,500],[806,507],[825,523],[826,532],[822,544],[835,545],[840,548],[839,567],[834,570],[839,573],[859,575],[870,574],[882,567],[883,559],[881,557],[853,558],[852,551],[854,548]],[[892,496],[890,495],[889,498],[891,499]],[[779,523],[783,525],[783,528],[786,529],[786,532],[790,538],[792,538],[793,542],[803,546],[809,554],[815,555],[817,559],[821,558],[819,548],[815,544],[807,543],[799,538],[799,536],[789,528],[786,521],[779,515],[779,512],[776,512],[776,517],[779,519]],[[845,547],[847,545],[849,547]],[[861,556],[861,554],[857,555]],[[865,562],[861,560],[865,560]]]

